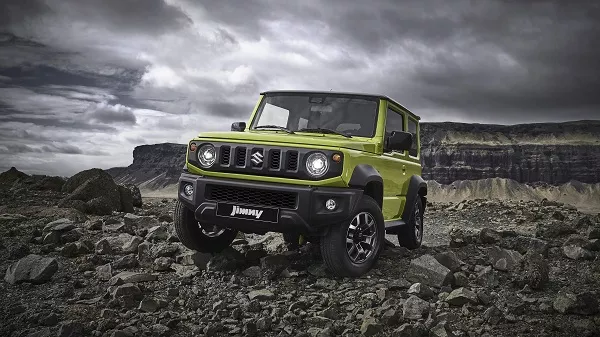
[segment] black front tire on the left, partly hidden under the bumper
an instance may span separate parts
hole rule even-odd
[[[173,224],[175,233],[181,243],[191,249],[202,253],[218,253],[229,245],[236,238],[238,231],[231,229],[222,229],[216,233],[205,231],[196,221],[194,212],[186,208],[179,200],[175,204],[173,211]]]

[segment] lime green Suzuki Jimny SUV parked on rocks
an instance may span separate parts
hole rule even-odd
[[[219,252],[238,231],[318,243],[339,276],[369,271],[385,234],[417,248],[427,185],[419,117],[387,96],[261,93],[248,124],[188,144],[174,212],[188,248]]]

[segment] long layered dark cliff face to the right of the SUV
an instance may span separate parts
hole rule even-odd
[[[423,123],[423,178],[600,182],[600,122],[522,125]]]

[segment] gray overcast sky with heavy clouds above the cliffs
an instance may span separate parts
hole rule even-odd
[[[577,4],[576,4],[577,3]],[[600,119],[596,1],[3,0],[0,170],[127,166],[268,89],[387,94],[423,121]]]

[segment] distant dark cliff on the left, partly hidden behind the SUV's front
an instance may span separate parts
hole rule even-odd
[[[114,167],[107,172],[118,184],[133,183],[140,189],[160,189],[177,183],[185,164],[185,151],[183,144],[136,146],[131,165]]]

